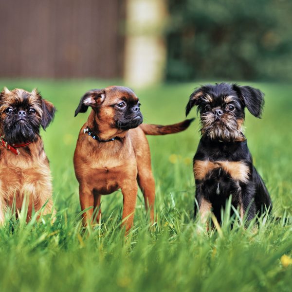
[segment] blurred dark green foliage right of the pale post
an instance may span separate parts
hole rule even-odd
[[[292,79],[291,0],[168,0],[168,80]]]

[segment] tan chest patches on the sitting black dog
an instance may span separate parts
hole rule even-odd
[[[247,183],[250,175],[249,166],[243,161],[195,160],[194,174],[197,181],[230,178],[236,182]]]

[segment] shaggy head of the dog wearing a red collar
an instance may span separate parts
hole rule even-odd
[[[0,93],[0,131],[8,144],[35,142],[40,126],[47,128],[54,115],[55,107],[37,89],[4,88]]]

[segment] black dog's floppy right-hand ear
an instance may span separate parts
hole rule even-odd
[[[233,89],[243,100],[244,105],[255,117],[260,118],[264,107],[264,93],[250,86],[239,86],[233,84]]]

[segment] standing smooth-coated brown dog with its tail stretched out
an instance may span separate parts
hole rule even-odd
[[[137,181],[153,222],[155,184],[145,134],[180,132],[192,120],[171,126],[141,125],[143,117],[138,97],[130,89],[121,86],[86,92],[75,116],[79,112],[86,112],[88,107],[92,110],[80,130],[74,153],[81,209],[93,206],[83,214],[84,223],[92,223],[93,212],[99,209],[101,195],[121,189],[124,197],[123,224],[128,230],[133,224]]]

